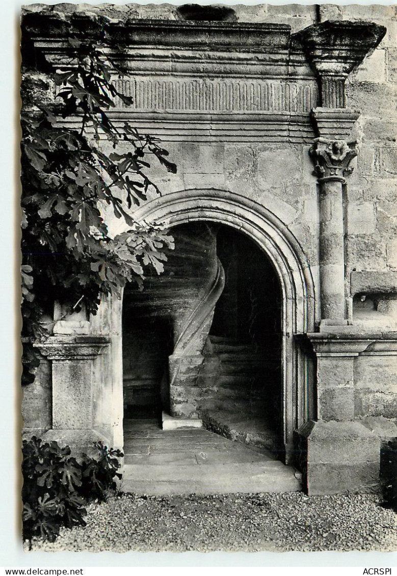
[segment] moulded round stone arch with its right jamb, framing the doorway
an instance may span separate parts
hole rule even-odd
[[[213,188],[167,194],[146,203],[135,213],[135,218],[148,223],[162,222],[169,227],[193,221],[228,225],[247,234],[269,257],[282,293],[283,440],[289,460],[294,431],[315,416],[312,368],[296,338],[314,329],[315,290],[309,264],[297,239],[270,210],[243,196]],[[114,321],[116,316],[119,315],[113,316]],[[114,328],[120,333],[119,325]],[[116,387],[122,388],[122,366],[115,366],[114,373],[117,373]]]

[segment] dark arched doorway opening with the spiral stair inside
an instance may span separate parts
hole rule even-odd
[[[162,411],[198,416],[228,438],[283,452],[282,298],[271,262],[227,225],[189,222],[170,233],[175,249],[165,251],[164,273],[149,272],[143,291],[124,289],[124,423],[154,425]],[[207,299],[217,261],[222,285]],[[186,322],[196,328],[176,359]],[[186,370],[176,375],[178,360]]]

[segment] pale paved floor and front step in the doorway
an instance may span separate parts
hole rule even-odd
[[[269,453],[205,429],[124,420],[122,490],[135,494],[298,492],[300,474]]]

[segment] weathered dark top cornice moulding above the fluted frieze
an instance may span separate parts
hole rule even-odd
[[[112,60],[133,76],[313,79],[304,53],[293,50],[285,24],[130,19],[100,25],[84,15],[61,20],[31,13],[24,17],[24,28],[47,66],[61,69],[74,63],[70,35],[84,40],[104,35],[117,42],[109,48]]]

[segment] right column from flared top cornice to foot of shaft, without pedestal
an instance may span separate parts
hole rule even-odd
[[[365,21],[325,21],[298,33],[316,75],[320,108],[312,110],[316,138],[311,149],[320,188],[320,297],[323,325],[346,324],[343,202],[345,175],[357,156],[349,142],[360,112],[346,109],[345,82],[385,35]]]

